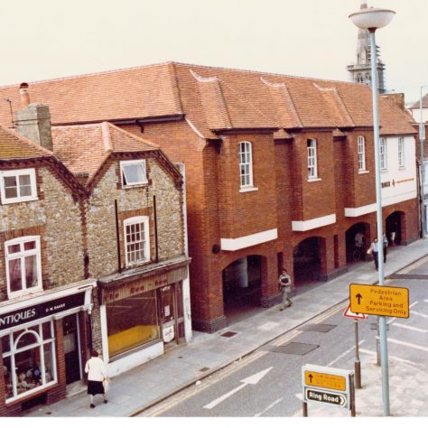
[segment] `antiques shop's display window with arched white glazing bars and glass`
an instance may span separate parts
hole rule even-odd
[[[1,340],[6,403],[56,382],[52,321],[8,333]]]

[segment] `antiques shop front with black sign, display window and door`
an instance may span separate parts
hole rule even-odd
[[[84,281],[0,303],[0,414],[50,404],[82,379],[95,286]]]

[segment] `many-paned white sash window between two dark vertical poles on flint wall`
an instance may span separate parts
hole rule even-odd
[[[149,218],[133,217],[124,221],[126,265],[150,260]]]

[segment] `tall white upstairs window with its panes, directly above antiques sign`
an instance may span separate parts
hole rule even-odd
[[[42,290],[40,237],[18,237],[5,242],[9,298]]]

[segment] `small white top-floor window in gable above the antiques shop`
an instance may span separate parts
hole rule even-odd
[[[1,171],[0,195],[2,204],[37,200],[35,170]]]

